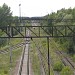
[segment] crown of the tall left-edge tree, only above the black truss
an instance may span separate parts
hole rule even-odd
[[[3,6],[0,6],[0,26],[11,25],[12,23],[12,12],[10,7],[5,3]]]

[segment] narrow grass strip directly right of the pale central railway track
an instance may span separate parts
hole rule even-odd
[[[30,57],[32,60],[32,68],[33,68],[34,75],[40,75],[40,62],[34,44],[31,45]]]

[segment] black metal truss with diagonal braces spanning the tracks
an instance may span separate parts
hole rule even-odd
[[[29,36],[26,34],[27,30],[30,31]],[[73,37],[75,35],[75,26],[4,26],[0,27],[0,32],[4,33],[4,36],[0,36],[0,38]]]

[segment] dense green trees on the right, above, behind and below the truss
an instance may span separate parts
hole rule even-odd
[[[48,19],[56,19],[56,21],[47,21],[47,22],[43,22],[42,25],[47,25],[47,26],[57,26],[57,25],[75,25],[75,8],[69,8],[69,9],[65,9],[62,8],[61,10],[58,10],[57,12],[52,12],[49,15],[46,15],[45,18]],[[69,19],[69,21],[67,20]],[[70,19],[73,19],[70,20]],[[65,21],[67,20],[67,21]],[[48,33],[51,33],[51,28],[46,28],[46,30],[48,31]],[[60,29],[61,31],[63,31],[64,33],[64,28]],[[70,33],[71,34],[71,33]],[[68,35],[70,35],[68,34]],[[55,33],[56,35],[56,33]],[[75,37],[75,35],[74,35]],[[56,39],[57,42],[60,43],[61,46],[64,47],[64,49],[66,49],[66,51],[68,53],[74,54],[75,53],[75,38],[57,38]]]

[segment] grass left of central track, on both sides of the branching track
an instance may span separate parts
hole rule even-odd
[[[16,45],[21,43],[22,39],[11,39],[10,45]],[[1,47],[1,50],[9,48],[9,45]],[[0,54],[0,75],[10,75],[10,67],[12,68],[12,72],[16,66],[16,62],[19,59],[22,52],[22,47],[12,50],[12,65],[10,65],[10,51],[5,54]]]

